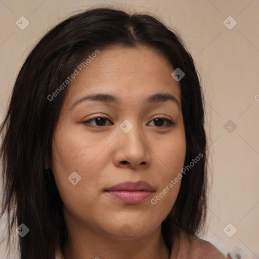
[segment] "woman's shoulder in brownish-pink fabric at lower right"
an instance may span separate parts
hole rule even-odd
[[[226,259],[226,256],[208,241],[182,232],[175,246],[172,247],[170,258]]]

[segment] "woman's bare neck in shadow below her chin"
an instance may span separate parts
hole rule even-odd
[[[142,238],[111,236],[83,225],[68,226],[69,241],[63,247],[64,259],[168,259],[169,250],[161,225]]]

